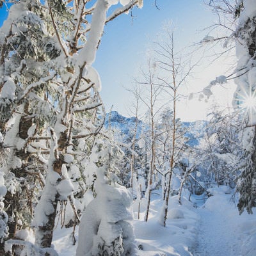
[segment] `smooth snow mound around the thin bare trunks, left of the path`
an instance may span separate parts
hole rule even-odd
[[[196,241],[196,225],[199,220],[193,204],[184,198],[172,196],[169,202],[166,227],[159,224],[159,209],[163,200],[153,199],[148,221],[134,220],[134,232],[139,255],[191,256]],[[136,211],[137,212],[137,211]],[[145,212],[141,212],[143,215]],[[136,214],[134,214],[136,218]]]

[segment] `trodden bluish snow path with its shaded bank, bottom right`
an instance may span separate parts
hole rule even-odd
[[[198,214],[201,218],[193,256],[256,255],[255,246],[252,246],[255,228],[250,227],[255,227],[255,216],[250,216],[246,212],[239,216],[230,194],[218,191],[198,209]]]

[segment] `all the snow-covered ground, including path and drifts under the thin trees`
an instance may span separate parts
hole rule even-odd
[[[204,200],[186,195],[179,205],[177,196],[170,198],[167,225],[159,224],[163,201],[159,192],[152,194],[150,218],[143,220],[145,205],[134,204],[134,232],[141,256],[255,256],[256,215],[244,212],[239,216],[233,191],[225,186],[211,189],[212,196]],[[56,229],[54,246],[60,256],[75,256],[72,229]]]

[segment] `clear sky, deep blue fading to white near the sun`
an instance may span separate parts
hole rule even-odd
[[[144,0],[140,10],[134,8],[132,13],[121,15],[109,22],[104,29],[104,35],[97,52],[93,66],[97,68],[102,80],[102,99],[108,112],[113,110],[129,116],[132,97],[125,88],[132,88],[133,77],[138,77],[140,67],[147,62],[147,50],[150,43],[157,38],[157,33],[166,20],[175,24],[175,41],[181,48],[199,42],[205,36],[202,29],[210,26],[216,17],[205,6],[202,0]],[[0,26],[8,13],[0,9]],[[202,90],[209,81],[227,67],[218,63],[205,68],[203,63],[198,68],[193,79],[188,83],[188,93]],[[232,86],[234,90],[234,86]],[[216,93],[210,101],[226,105],[232,98],[232,90],[222,90]],[[209,111],[210,104],[194,100],[183,100],[178,104],[178,113],[183,120],[203,119]],[[141,109],[141,113],[145,109]]]

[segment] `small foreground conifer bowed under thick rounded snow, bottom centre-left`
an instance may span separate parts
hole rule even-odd
[[[118,184],[113,187],[97,180],[97,186],[97,196],[86,207],[79,225],[77,256],[132,255],[131,195]]]

